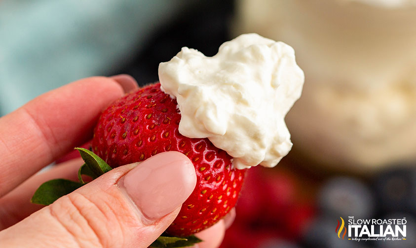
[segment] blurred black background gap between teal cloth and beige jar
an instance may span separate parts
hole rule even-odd
[[[195,3],[194,7],[155,31],[143,49],[132,53],[130,62],[108,75],[127,73],[140,85],[145,85],[157,81],[159,63],[172,59],[184,46],[213,56],[223,42],[232,38],[229,25],[233,13],[234,4],[231,0]]]

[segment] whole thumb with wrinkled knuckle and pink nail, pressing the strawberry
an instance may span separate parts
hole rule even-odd
[[[0,232],[2,247],[146,248],[196,185],[186,155],[120,166]]]

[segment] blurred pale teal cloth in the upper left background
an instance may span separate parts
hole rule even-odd
[[[0,0],[0,116],[51,89],[120,68],[189,2]]]

